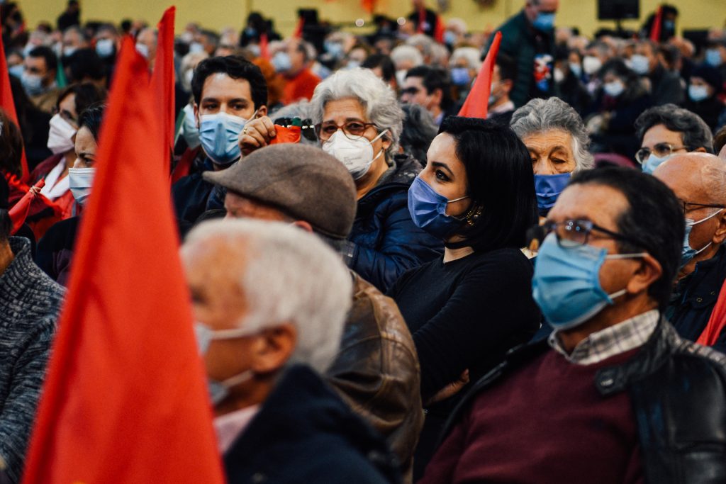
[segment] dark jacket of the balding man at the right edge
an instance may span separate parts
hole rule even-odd
[[[697,263],[696,270],[676,284],[665,314],[681,337],[696,341],[701,336],[714,311],[724,279],[726,247],[722,246],[716,255]],[[719,335],[714,349],[726,353],[726,332]]]

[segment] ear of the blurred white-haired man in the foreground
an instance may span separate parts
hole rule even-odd
[[[256,374],[275,373],[290,361],[298,343],[298,332],[291,323],[264,329],[252,347],[252,370]]]

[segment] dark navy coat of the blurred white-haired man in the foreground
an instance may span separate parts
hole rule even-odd
[[[229,484],[400,482],[383,438],[307,366],[293,366],[224,455]]]

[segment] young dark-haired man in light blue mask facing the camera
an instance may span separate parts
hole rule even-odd
[[[194,70],[192,94],[202,150],[192,173],[171,189],[182,233],[206,210],[222,207],[221,197],[211,197],[213,184],[202,173],[223,170],[239,160],[240,133],[250,120],[267,114],[264,75],[242,57],[211,57],[200,62]]]

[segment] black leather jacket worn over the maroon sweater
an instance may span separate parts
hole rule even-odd
[[[504,363],[465,395],[447,430],[461,424],[478,393],[546,351],[551,351],[546,340],[510,351]],[[726,356],[722,353],[682,340],[661,318],[635,356],[600,369],[592,385],[603,398],[619,392],[630,396],[645,483],[726,482]]]

